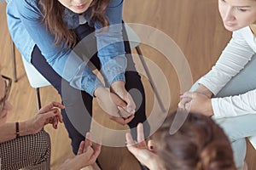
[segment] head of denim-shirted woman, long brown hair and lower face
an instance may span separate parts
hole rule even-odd
[[[68,47],[73,47],[77,42],[76,34],[73,30],[68,30],[64,22],[63,14],[65,8],[76,14],[85,11],[90,12],[90,21],[99,22],[102,27],[108,26],[109,22],[105,16],[105,10],[110,0],[38,0],[43,10],[43,22],[48,30],[55,36],[55,45],[60,45],[63,40]]]

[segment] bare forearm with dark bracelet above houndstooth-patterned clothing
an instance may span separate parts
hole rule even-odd
[[[0,143],[16,138],[15,122],[7,122],[3,126],[1,126],[0,129]],[[32,129],[27,125],[26,122],[19,123],[20,136],[32,134],[31,130]]]

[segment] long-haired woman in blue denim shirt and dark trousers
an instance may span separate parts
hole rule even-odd
[[[123,0],[7,3],[9,31],[20,54],[61,94],[66,107],[61,113],[74,153],[90,131],[93,97],[115,122],[132,128],[146,121],[143,84],[129,43],[124,42]],[[91,64],[101,72],[110,92],[92,72]],[[137,88],[143,99],[127,92],[132,88]]]

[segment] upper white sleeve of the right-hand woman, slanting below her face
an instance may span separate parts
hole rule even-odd
[[[229,44],[224,48],[216,65],[201,78],[199,83],[211,90],[213,94],[218,94],[226,83],[247,65],[253,54],[253,49],[242,37],[242,32],[234,31]]]

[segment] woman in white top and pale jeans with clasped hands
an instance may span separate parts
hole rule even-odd
[[[256,0],[218,0],[218,8],[233,36],[178,106],[212,116],[230,138],[236,167],[242,167],[245,138],[256,135]]]

